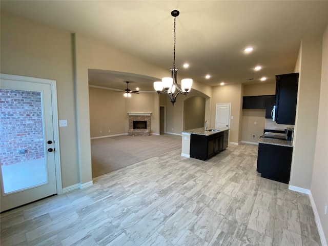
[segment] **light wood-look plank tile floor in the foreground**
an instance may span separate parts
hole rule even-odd
[[[257,146],[180,151],[1,214],[1,245],[321,245],[309,197],[261,178]]]

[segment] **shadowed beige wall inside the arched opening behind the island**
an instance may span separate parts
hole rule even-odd
[[[189,130],[204,127],[205,122],[205,98],[192,96],[185,100],[183,129]]]

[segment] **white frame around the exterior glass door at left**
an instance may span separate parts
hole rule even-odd
[[[53,123],[53,137],[55,141],[56,151],[54,152],[55,156],[55,170],[56,170],[56,187],[57,194],[63,193],[63,187],[61,186],[61,169],[60,169],[60,148],[59,148],[59,126],[58,126],[58,109],[57,109],[57,86],[56,80],[44,79],[44,78],[33,78],[19,75],[11,75],[0,73],[1,79],[8,80],[18,80],[18,81],[26,81],[30,83],[38,83],[38,84],[47,84],[51,87],[51,98],[52,98],[52,123]]]

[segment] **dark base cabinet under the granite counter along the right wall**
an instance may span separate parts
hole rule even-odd
[[[292,153],[292,147],[259,144],[257,172],[261,173],[263,178],[289,183]]]

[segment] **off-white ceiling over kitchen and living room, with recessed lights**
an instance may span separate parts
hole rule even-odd
[[[265,83],[294,70],[301,40],[328,25],[328,1],[3,1],[1,9],[72,33],[90,35],[168,69],[176,22],[178,79],[210,86]],[[244,54],[245,47],[254,51]],[[182,64],[189,63],[188,69]],[[253,68],[262,66],[255,72]],[[210,74],[210,79],[204,76]],[[254,80],[248,80],[254,78]],[[89,71],[89,83],[153,90],[155,78]]]

